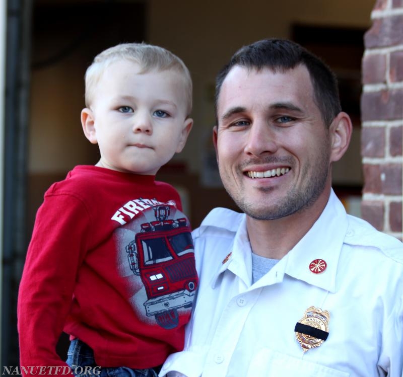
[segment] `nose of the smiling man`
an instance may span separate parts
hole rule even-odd
[[[256,119],[249,127],[244,152],[251,156],[275,153],[278,146],[277,135],[265,119]]]

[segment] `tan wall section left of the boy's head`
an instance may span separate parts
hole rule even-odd
[[[89,161],[80,123],[83,73],[74,60],[34,71],[31,79],[29,172],[68,171]],[[95,163],[95,160],[94,160]]]

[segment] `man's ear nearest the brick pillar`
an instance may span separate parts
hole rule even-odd
[[[329,127],[331,152],[330,161],[339,161],[345,154],[350,144],[353,125],[348,114],[339,113]]]

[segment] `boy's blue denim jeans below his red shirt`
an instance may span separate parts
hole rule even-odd
[[[125,366],[104,368],[95,363],[94,351],[79,339],[70,343],[66,363],[79,377],[158,377],[157,369],[132,369]]]

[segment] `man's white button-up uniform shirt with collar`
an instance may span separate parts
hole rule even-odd
[[[332,192],[309,232],[251,285],[245,215],[215,208],[193,232],[200,285],[169,377],[402,376],[403,244],[346,214]],[[227,257],[229,255],[229,257]],[[327,268],[312,273],[310,263]],[[295,325],[328,311],[328,338],[303,352]]]

